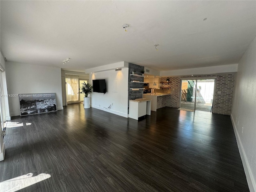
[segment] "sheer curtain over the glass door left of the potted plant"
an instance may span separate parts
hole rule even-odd
[[[66,97],[67,103],[78,103],[79,80],[78,75],[66,74]]]

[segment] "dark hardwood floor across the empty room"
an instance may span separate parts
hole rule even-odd
[[[51,176],[21,192],[249,191],[230,116],[165,107],[138,122],[70,104],[10,122],[23,126],[6,128],[0,182]]]

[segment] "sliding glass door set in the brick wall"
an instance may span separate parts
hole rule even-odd
[[[215,79],[181,80],[180,108],[211,111]]]

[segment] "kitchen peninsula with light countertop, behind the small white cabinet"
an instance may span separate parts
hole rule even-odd
[[[164,94],[164,93],[147,93],[143,94],[143,98],[151,99],[151,110],[156,111],[159,108],[166,107],[167,106],[167,99],[170,94]]]

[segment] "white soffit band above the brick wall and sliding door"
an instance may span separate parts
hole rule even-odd
[[[160,76],[208,75],[237,72],[238,64],[161,71]]]

